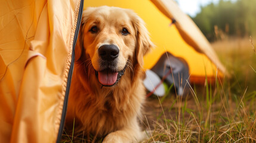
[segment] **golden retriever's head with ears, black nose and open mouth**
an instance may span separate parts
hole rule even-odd
[[[131,10],[116,7],[84,11],[75,60],[89,60],[103,86],[118,82],[129,64],[142,64],[152,46],[144,23]]]

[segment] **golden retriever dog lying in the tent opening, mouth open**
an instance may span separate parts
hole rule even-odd
[[[138,116],[146,91],[143,56],[153,43],[143,20],[132,10],[88,8],[75,48],[66,126],[104,138],[138,142]]]

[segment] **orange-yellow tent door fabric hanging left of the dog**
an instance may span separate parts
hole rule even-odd
[[[57,141],[80,4],[0,1],[0,142]]]

